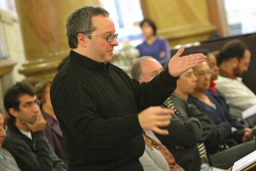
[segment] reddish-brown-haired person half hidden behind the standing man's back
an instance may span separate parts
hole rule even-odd
[[[50,87],[52,81],[46,80],[36,84],[36,95],[40,101],[40,108],[43,118],[46,120],[46,138],[51,145],[54,153],[64,161],[66,167],[68,167],[67,154],[64,147],[64,139],[59,123],[54,114],[51,99],[50,99]]]

